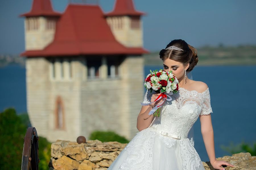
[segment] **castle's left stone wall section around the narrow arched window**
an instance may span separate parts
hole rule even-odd
[[[52,77],[52,63],[47,58],[27,58],[26,88],[27,108],[30,121],[38,135],[54,142],[57,139],[76,140],[80,133],[80,83],[81,62],[72,59],[72,78],[67,77],[69,68],[64,59],[64,77],[60,76],[60,60],[55,62],[55,78]],[[66,75],[66,76],[65,76]],[[63,103],[62,129],[56,128],[56,101]]]

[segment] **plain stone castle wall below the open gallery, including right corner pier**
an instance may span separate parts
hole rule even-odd
[[[143,100],[143,57],[128,56],[120,78],[87,79],[81,88],[81,134],[111,130],[131,140]]]

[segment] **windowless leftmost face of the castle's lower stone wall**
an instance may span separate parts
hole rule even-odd
[[[32,127],[47,137],[49,119],[49,65],[44,58],[26,59],[27,111]]]

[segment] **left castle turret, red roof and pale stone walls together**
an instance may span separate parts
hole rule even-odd
[[[42,50],[53,41],[55,26],[61,13],[52,9],[50,0],[34,0],[25,18],[25,49]]]

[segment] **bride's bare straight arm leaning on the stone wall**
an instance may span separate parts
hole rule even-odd
[[[220,167],[222,165],[234,167],[234,165],[232,165],[226,161],[217,161],[215,158],[214,136],[213,136],[211,114],[200,115],[199,118],[200,118],[200,122],[201,122],[201,133],[203,136],[205,148],[206,148],[211,165],[215,169],[219,169],[219,170],[225,169],[223,167]]]

